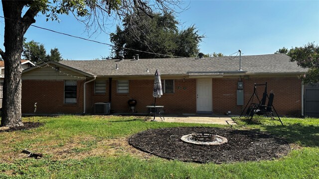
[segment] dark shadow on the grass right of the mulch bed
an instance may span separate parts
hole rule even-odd
[[[246,119],[239,119],[248,122]],[[307,122],[293,122],[283,120],[285,126],[282,126],[278,120],[253,119],[246,126],[260,125],[257,129],[251,129],[255,132],[267,132],[285,139],[288,143],[299,144],[304,147],[319,147],[319,125],[307,124]]]

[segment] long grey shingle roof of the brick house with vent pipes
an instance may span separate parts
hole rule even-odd
[[[131,60],[64,60],[59,62],[71,68],[97,76],[150,76],[156,69],[161,75],[185,75],[197,72],[204,73],[235,73],[239,70],[239,57],[195,58],[165,58]],[[116,69],[118,64],[118,69]],[[149,72],[146,72],[147,69]],[[253,55],[241,57],[241,69],[249,74],[259,73],[290,73],[300,74],[306,69],[298,67],[296,62],[290,62],[285,54]]]

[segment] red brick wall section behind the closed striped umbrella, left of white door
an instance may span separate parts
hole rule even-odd
[[[146,112],[145,106],[154,104],[154,80],[130,80],[129,93],[118,94],[116,81],[112,81],[111,108],[117,112],[128,112],[127,101],[137,100],[136,110]],[[174,93],[164,93],[156,99],[157,105],[163,105],[165,113],[195,113],[196,112],[196,80],[174,80]]]

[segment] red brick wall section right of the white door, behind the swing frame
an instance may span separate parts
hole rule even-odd
[[[298,78],[242,78],[244,87],[244,105],[237,105],[237,82],[239,79],[213,79],[213,112],[223,114],[231,111],[240,114],[254,92],[254,84],[265,84],[267,92],[273,91],[273,105],[279,115],[301,114],[301,81]],[[257,86],[259,99],[262,98],[264,86]],[[254,102],[258,103],[256,96]],[[267,104],[267,103],[266,103]]]

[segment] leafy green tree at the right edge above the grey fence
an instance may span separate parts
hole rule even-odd
[[[292,62],[300,67],[308,68],[308,72],[301,76],[304,84],[319,83],[319,46],[308,43],[302,47],[295,47],[287,53]]]

